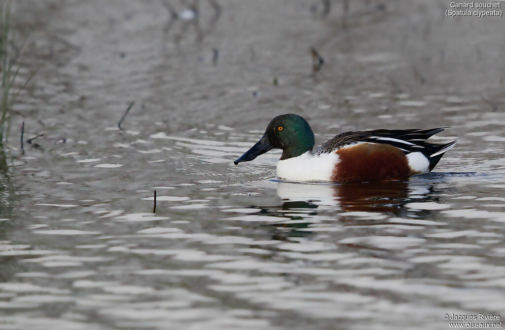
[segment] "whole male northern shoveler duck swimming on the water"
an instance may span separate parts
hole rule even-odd
[[[458,140],[436,145],[426,140],[447,127],[345,132],[314,149],[314,132],[295,114],[272,119],[263,137],[234,163],[282,149],[279,179],[289,181],[376,181],[427,173]]]

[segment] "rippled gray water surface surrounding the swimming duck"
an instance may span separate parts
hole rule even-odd
[[[198,33],[154,0],[16,2],[20,77],[39,70],[0,182],[0,329],[431,330],[445,313],[502,315],[504,21],[448,19],[448,1],[356,1],[345,26],[340,2],[326,18],[317,1],[219,3],[216,17],[201,1]],[[459,143],[406,181],[279,182],[278,152],[233,165],[288,112],[318,144],[437,126],[451,128],[434,142]],[[44,133],[24,155],[22,121],[25,139]]]

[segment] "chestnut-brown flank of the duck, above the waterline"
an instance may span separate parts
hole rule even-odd
[[[332,181],[377,181],[403,179],[410,175],[409,161],[398,148],[386,144],[363,143],[336,151],[339,161]]]

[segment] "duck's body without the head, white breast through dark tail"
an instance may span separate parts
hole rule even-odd
[[[427,142],[444,130],[405,129],[344,132],[315,152],[279,161],[277,175],[291,181],[375,181],[403,179],[431,171],[456,145]]]

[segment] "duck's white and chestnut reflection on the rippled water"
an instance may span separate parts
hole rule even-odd
[[[382,181],[373,183],[292,183],[277,182],[277,195],[283,199],[279,207],[262,208],[263,214],[283,218],[275,223],[273,239],[302,237],[312,233],[316,215],[332,216],[342,212],[378,212],[396,217],[427,218],[433,211],[406,207],[411,202],[435,201],[429,181]],[[335,212],[336,211],[336,212]],[[360,224],[377,224],[377,220],[360,219]],[[339,221],[356,219],[339,217]],[[384,221],[384,220],[380,220]],[[270,225],[270,224],[269,224]]]

